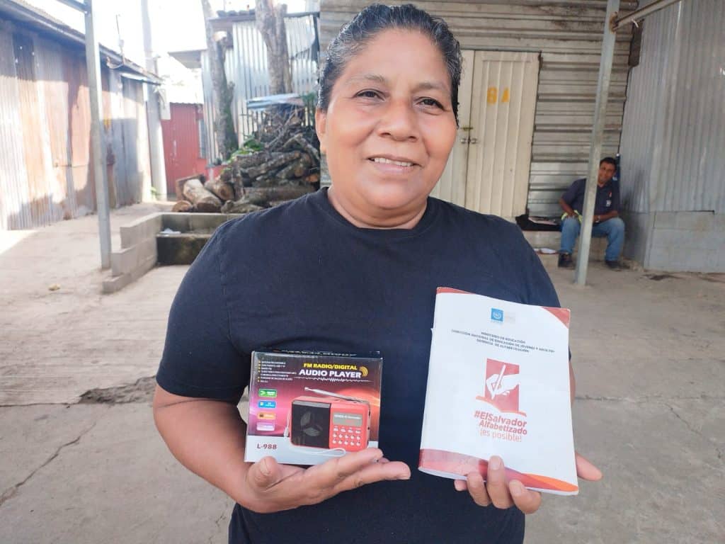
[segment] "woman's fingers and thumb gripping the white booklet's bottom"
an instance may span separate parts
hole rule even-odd
[[[576,475],[581,479],[595,482],[602,478],[602,472],[586,458],[575,454]],[[479,472],[471,472],[466,479],[457,479],[454,482],[457,491],[468,490],[473,501],[480,506],[493,504],[496,508],[510,508],[516,506],[524,514],[534,514],[542,503],[542,494],[523,487],[518,480],[506,482],[505,467],[498,456],[489,460],[487,480]]]

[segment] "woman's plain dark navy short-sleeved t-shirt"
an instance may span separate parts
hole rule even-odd
[[[523,540],[516,508],[481,508],[450,479],[417,470],[439,286],[559,305],[518,227],[433,198],[410,230],[357,228],[324,189],[218,228],[175,297],[159,385],[236,403],[252,350],[380,351],[379,445],[412,473],[276,514],[237,505],[230,543]]]

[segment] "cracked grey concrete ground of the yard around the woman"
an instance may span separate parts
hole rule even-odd
[[[150,411],[186,267],[102,295],[96,223],[0,232],[0,543],[224,543],[231,501]],[[593,262],[581,289],[544,262],[572,309],[576,445],[605,479],[545,496],[526,543],[725,542],[725,276]]]

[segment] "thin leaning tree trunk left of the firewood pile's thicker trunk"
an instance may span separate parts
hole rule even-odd
[[[239,147],[231,115],[233,85],[227,83],[224,71],[225,46],[220,46],[214,41],[214,30],[209,22],[214,17],[214,11],[209,0],[202,0],[202,10],[204,11],[204,27],[207,33],[207,56],[209,57],[212,87],[214,88],[215,120],[213,130],[220,155],[220,157],[213,158],[225,160]]]

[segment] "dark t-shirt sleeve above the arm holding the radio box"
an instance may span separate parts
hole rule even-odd
[[[225,300],[223,236],[217,229],[176,293],[156,379],[175,395],[238,403],[249,383],[249,354],[231,339]]]

